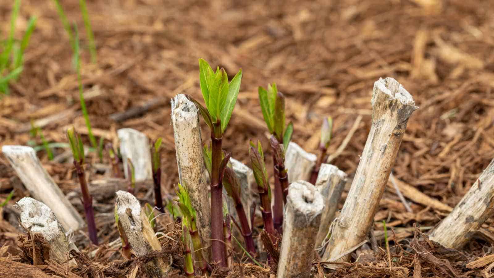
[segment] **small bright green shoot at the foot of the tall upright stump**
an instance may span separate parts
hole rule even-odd
[[[192,239],[194,254],[196,255],[199,267],[204,275],[206,273],[207,265],[201,251],[203,245],[201,243],[201,237],[199,236],[199,232],[197,230],[196,211],[192,207],[189,192],[187,192],[187,189],[184,186],[178,184],[178,191],[176,193],[178,196],[178,208],[180,209],[180,213],[182,214],[182,225],[187,226],[187,231],[190,233]]]

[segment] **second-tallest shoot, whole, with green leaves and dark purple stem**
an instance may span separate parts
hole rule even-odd
[[[258,89],[262,115],[272,134],[270,139],[273,150],[273,167],[275,173],[275,202],[273,206],[274,227],[281,232],[283,224],[283,204],[287,201],[288,175],[285,168],[285,151],[293,133],[290,122],[285,130],[285,96],[278,92],[276,84],[268,84],[268,90]],[[284,132],[285,130],[285,132]],[[283,145],[281,149],[280,144]]]

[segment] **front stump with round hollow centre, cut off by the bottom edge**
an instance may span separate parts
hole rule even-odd
[[[288,187],[277,278],[310,277],[323,208],[316,186],[297,181]]]

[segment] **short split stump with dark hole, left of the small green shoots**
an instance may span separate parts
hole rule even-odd
[[[161,251],[160,241],[149,224],[139,201],[129,192],[117,191],[117,214],[122,232],[128,239],[132,253],[137,257],[152,251]],[[170,270],[168,258],[155,258],[145,265],[149,277],[166,277]]]

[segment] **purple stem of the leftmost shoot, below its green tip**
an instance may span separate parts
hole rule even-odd
[[[74,166],[76,167],[77,177],[79,178],[79,184],[81,185],[82,193],[82,205],[84,206],[84,214],[86,216],[87,232],[89,233],[89,239],[92,243],[98,245],[98,234],[96,231],[96,224],[94,223],[94,211],[92,207],[92,197],[87,189],[86,177],[84,175],[84,167],[79,161],[74,160]]]

